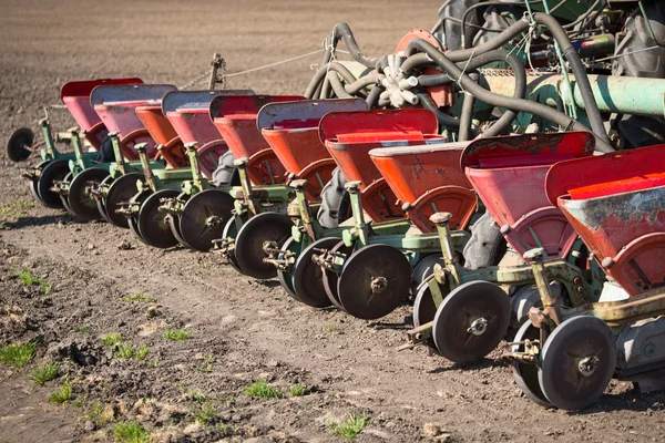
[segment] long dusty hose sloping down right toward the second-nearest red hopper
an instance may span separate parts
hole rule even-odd
[[[452,78],[456,79],[456,81],[458,81],[464,90],[469,91],[478,100],[481,100],[493,106],[505,107],[512,111],[520,111],[539,115],[563,127],[566,127],[569,131],[592,132],[590,128],[587,128],[576,120],[571,119],[564,113],[544,104],[531,102],[529,100],[523,99],[508,97],[485,90],[484,87],[475,84],[475,82],[473,82],[473,80],[471,80],[468,74],[464,74],[456,63],[448,59],[448,56],[446,56],[437,48],[434,48],[433,45],[431,45],[422,39],[412,40],[409,44],[413,44],[413,47],[416,47],[420,51],[426,52],[441,68],[441,70],[451,74]],[[610,146],[610,144],[605,143],[603,140],[598,140],[596,146],[601,152],[614,151],[612,146]]]

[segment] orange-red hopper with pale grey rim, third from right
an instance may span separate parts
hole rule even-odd
[[[460,167],[462,152],[470,142],[427,144],[371,150],[369,156],[386,178],[407,217],[423,233],[437,227],[430,216],[452,214],[450,227],[464,229],[475,212],[475,190]]]

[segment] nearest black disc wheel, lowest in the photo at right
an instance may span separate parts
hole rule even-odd
[[[542,349],[540,387],[554,406],[569,411],[594,403],[616,369],[610,327],[595,317],[562,322]]]

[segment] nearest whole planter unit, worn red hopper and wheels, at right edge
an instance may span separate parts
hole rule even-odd
[[[542,405],[594,403],[613,374],[663,389],[665,145],[552,166],[545,188],[607,272],[600,302],[567,308],[551,293],[543,248],[526,253],[542,300],[505,357]]]

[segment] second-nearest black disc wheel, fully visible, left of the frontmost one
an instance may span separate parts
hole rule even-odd
[[[439,306],[432,337],[441,356],[468,363],[497,348],[509,326],[510,302],[503,289],[489,281],[470,281]]]

